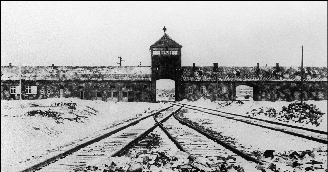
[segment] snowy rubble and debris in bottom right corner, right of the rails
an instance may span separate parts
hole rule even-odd
[[[327,150],[323,150],[322,147],[318,147],[313,150],[305,150],[300,152],[290,150],[287,154],[278,153],[274,155],[275,150],[266,150],[264,153],[255,151],[248,154],[257,158],[265,163],[265,165],[256,165],[256,169],[275,172],[293,172],[293,171],[325,171],[327,172]],[[270,170],[268,170],[270,169]]]

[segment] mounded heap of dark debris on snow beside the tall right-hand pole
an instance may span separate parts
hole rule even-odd
[[[281,115],[278,120],[283,122],[299,122],[299,123],[311,123],[312,125],[319,125],[322,118],[322,113],[316,105],[308,105],[306,102],[303,104],[300,102],[294,102],[288,105],[288,107],[283,106],[282,111],[279,112]]]

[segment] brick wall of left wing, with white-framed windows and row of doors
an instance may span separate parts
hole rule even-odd
[[[1,99],[2,100],[17,100],[19,95],[10,94],[10,86],[18,86],[19,82],[5,82],[1,81]],[[147,85],[147,88],[144,88]],[[26,86],[37,86],[37,94],[26,94]],[[22,99],[47,99],[60,97],[60,88],[63,86],[63,97],[77,97],[80,98],[80,93],[83,91],[83,99],[86,100],[103,100],[109,101],[108,92],[117,92],[117,101],[137,101],[150,102],[151,82],[22,82]],[[83,86],[79,88],[78,86]],[[99,88],[94,88],[99,86]],[[110,86],[115,86],[111,89]],[[131,86],[127,89],[126,86]],[[41,89],[44,93],[41,94]],[[48,93],[50,90],[50,93]],[[96,98],[96,93],[99,91],[102,97]],[[129,97],[123,97],[123,92],[129,92]]]

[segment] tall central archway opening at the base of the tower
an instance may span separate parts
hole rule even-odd
[[[172,79],[159,79],[156,81],[156,101],[175,100],[175,81]]]

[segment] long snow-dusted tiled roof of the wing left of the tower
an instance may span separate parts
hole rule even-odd
[[[1,66],[1,81],[19,80],[19,67]],[[24,81],[152,81],[151,67],[22,66]]]

